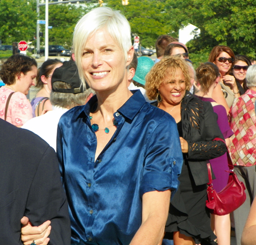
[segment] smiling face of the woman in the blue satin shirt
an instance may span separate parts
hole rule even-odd
[[[95,91],[115,89],[125,79],[123,50],[107,31],[100,29],[88,39],[81,61],[86,82]]]

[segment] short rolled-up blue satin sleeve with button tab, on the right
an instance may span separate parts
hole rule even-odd
[[[174,194],[179,186],[177,178],[182,164],[183,155],[177,125],[173,117],[166,113],[157,121],[152,134],[148,136],[140,195],[168,189]]]

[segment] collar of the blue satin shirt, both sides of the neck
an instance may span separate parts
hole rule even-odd
[[[133,120],[137,113],[141,110],[143,104],[146,103],[146,100],[144,99],[140,90],[131,90],[131,92],[133,95],[117,111],[124,117]],[[78,117],[80,117],[80,115],[82,116],[82,114],[88,117],[90,114],[90,108],[92,108],[97,101],[97,96],[92,96],[88,103],[77,110],[74,115],[74,119],[76,120]]]

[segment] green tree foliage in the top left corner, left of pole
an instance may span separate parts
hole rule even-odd
[[[0,0],[0,38],[3,44],[32,40],[35,29],[34,0]]]

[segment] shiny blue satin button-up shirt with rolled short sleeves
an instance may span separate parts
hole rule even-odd
[[[141,226],[142,195],[178,187],[183,157],[175,120],[135,91],[114,113],[117,129],[95,160],[93,96],[59,122],[57,155],[72,244],[128,245]],[[105,133],[105,132],[102,132]]]

